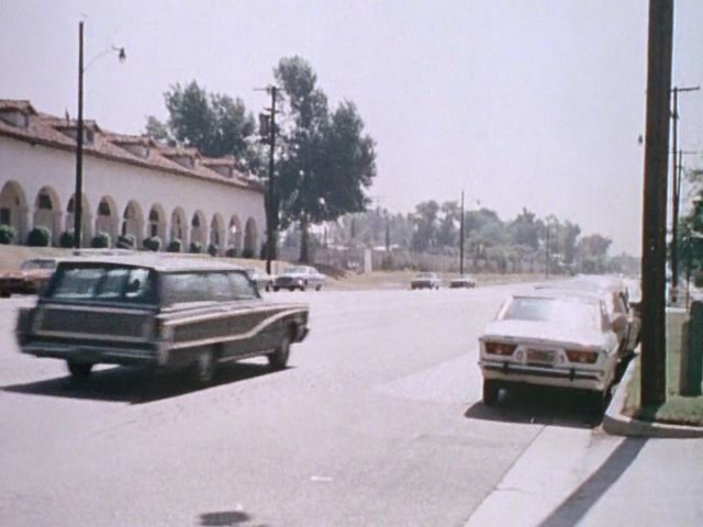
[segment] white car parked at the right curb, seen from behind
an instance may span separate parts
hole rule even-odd
[[[483,330],[483,403],[501,389],[558,386],[593,394],[601,408],[620,361],[625,316],[611,319],[598,294],[540,290],[510,296]]]

